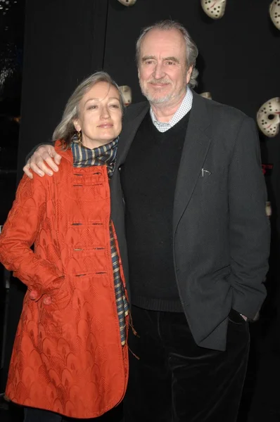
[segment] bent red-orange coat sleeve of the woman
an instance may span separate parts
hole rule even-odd
[[[14,276],[27,288],[37,290],[40,295],[53,292],[63,283],[63,274],[56,265],[31,249],[45,209],[43,179],[41,181],[37,175],[34,179],[24,176],[0,235],[0,261],[6,269],[14,271]]]

